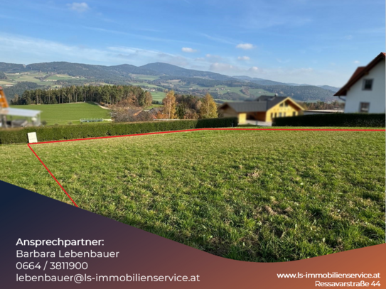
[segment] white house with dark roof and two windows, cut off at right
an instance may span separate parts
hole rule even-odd
[[[336,97],[345,97],[345,113],[385,113],[385,53],[358,67]]]

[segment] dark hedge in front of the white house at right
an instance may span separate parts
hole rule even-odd
[[[385,114],[309,114],[277,118],[272,126],[385,127]]]

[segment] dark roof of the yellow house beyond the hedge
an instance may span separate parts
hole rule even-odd
[[[289,97],[274,97],[274,96],[262,95],[261,97],[258,97],[254,101],[250,101],[250,102],[225,102],[219,107],[219,109],[223,109],[226,106],[228,106],[233,110],[235,110],[236,112],[267,111],[268,109],[274,107],[280,102],[283,102],[285,99],[290,99],[291,102],[294,102]],[[296,104],[296,102],[294,102],[294,104]],[[300,107],[299,104],[296,104],[296,105]]]

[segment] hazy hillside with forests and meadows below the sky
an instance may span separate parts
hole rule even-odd
[[[132,84],[151,90],[154,94],[163,94],[165,89],[173,89],[180,94],[195,94],[202,97],[209,92],[215,99],[224,100],[242,100],[263,94],[279,94],[300,101],[328,102],[336,99],[333,94],[337,89],[328,86],[284,84],[247,76],[228,77],[214,72],[188,70],[161,62],[141,67],[128,64],[104,66],[43,62],[19,65],[0,62],[0,71],[8,74],[5,76],[8,77],[9,84],[19,82],[13,89],[8,89],[9,99],[16,93],[19,96],[23,94],[23,89],[36,88],[26,88],[25,84],[21,84],[23,81],[36,82],[42,89],[72,85]]]

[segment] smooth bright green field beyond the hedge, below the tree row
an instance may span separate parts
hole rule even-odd
[[[80,124],[80,119],[102,118],[110,119],[108,109],[102,109],[93,103],[77,104],[40,104],[40,105],[12,105],[17,109],[35,109],[42,111],[41,120],[47,121],[48,126],[54,124]]]

